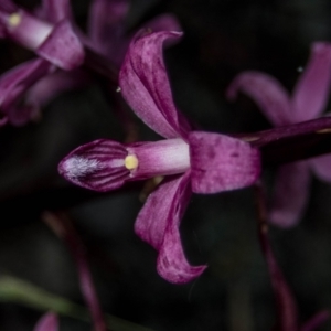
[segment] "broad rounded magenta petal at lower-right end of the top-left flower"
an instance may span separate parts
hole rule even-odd
[[[70,71],[84,61],[83,45],[68,21],[54,26],[47,39],[36,49],[36,54],[54,65]]]

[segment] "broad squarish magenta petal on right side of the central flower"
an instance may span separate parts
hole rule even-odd
[[[249,143],[228,136],[194,131],[189,135],[192,191],[216,193],[253,184],[260,157]]]

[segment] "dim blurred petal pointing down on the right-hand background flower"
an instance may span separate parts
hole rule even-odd
[[[279,168],[269,212],[270,223],[280,227],[299,223],[308,203],[310,179],[309,162],[295,162]]]

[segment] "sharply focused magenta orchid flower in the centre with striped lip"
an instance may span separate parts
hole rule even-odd
[[[129,181],[167,177],[147,199],[135,231],[158,250],[158,273],[175,284],[192,280],[206,267],[188,263],[180,239],[180,221],[192,192],[245,188],[260,170],[259,152],[250,145],[225,135],[193,131],[178,111],[162,45],[180,36],[180,32],[164,31],[136,38],[119,74],[124,98],[166,139],[132,145],[99,139],[78,147],[58,166],[68,181],[102,192]]]

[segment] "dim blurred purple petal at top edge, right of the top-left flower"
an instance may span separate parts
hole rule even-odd
[[[116,54],[124,38],[124,19],[128,11],[129,2],[127,0],[94,0],[92,2],[88,35],[96,49],[104,55]]]

